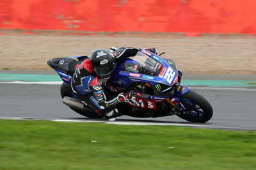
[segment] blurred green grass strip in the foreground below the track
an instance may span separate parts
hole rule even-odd
[[[255,132],[0,120],[0,169],[255,167]]]

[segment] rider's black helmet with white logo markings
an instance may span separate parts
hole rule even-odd
[[[93,50],[91,56],[92,65],[95,73],[104,79],[109,79],[115,68],[114,56],[108,50]]]

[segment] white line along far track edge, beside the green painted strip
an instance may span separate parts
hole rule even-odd
[[[38,82],[25,82],[25,81],[0,81],[3,84],[45,84],[45,85],[61,85],[62,81],[38,81]],[[190,89],[211,89],[211,90],[233,90],[233,91],[256,91],[256,88],[216,88],[216,87],[189,87]]]

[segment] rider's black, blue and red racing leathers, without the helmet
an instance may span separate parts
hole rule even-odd
[[[155,48],[154,48],[155,49]],[[120,62],[123,59],[135,56],[140,49],[120,47],[118,50],[113,50],[114,62]],[[104,118],[115,118],[118,116],[118,111],[115,107],[118,104],[117,95],[105,89],[107,79],[99,77],[92,65],[91,59],[85,59],[76,72],[72,76],[72,89],[77,98],[85,105],[89,105],[95,112]]]

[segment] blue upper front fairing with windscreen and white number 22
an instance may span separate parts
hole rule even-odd
[[[171,88],[177,81],[176,66],[147,50],[140,50],[136,56],[118,64],[109,79],[111,84],[122,88],[129,88],[133,82],[147,82],[151,86],[163,84]]]

